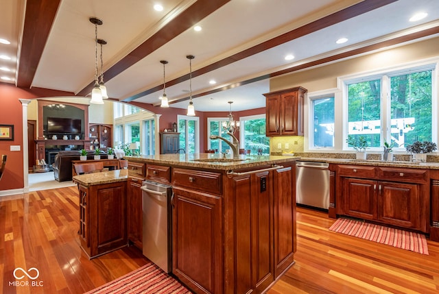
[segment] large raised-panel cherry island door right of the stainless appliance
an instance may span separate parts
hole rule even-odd
[[[222,199],[174,188],[173,273],[195,293],[222,291]]]

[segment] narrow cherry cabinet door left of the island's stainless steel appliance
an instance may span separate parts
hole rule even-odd
[[[139,249],[142,247],[142,181],[137,177],[130,177],[127,194],[127,230],[128,240]]]

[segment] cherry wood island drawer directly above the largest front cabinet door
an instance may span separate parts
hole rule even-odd
[[[191,169],[174,169],[172,179],[176,186],[221,194],[221,173],[193,171]]]

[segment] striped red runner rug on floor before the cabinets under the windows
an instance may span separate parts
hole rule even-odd
[[[423,234],[342,217],[329,230],[428,255],[427,239]]]

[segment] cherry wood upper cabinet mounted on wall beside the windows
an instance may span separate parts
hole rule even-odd
[[[303,101],[307,89],[289,88],[264,94],[265,136],[303,136]]]

